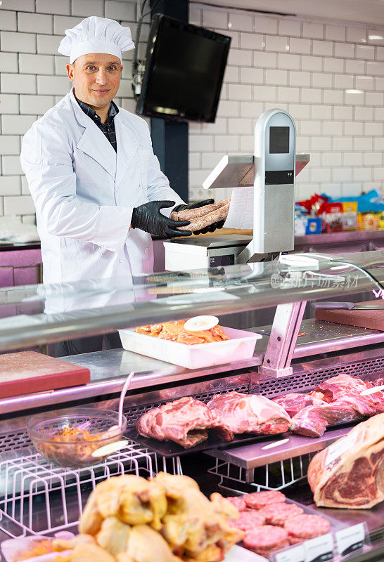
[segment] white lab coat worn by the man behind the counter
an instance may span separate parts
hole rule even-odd
[[[73,91],[25,134],[21,165],[36,207],[45,283],[150,273],[151,235],[129,229],[132,209],[153,200],[182,203],[160,171],[146,122],[119,110],[117,154]]]

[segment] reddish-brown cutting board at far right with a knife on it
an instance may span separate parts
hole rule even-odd
[[[378,301],[378,306],[381,306],[383,310],[380,309],[368,309],[363,308],[352,311],[345,310],[326,310],[326,308],[316,308],[315,318],[316,320],[326,320],[327,322],[336,322],[337,324],[347,324],[348,326],[357,326],[360,328],[377,329],[380,332],[384,332],[384,302]],[[366,301],[364,303],[358,304],[375,304],[374,301]]]

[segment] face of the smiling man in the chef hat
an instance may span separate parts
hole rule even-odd
[[[67,65],[68,78],[75,86],[76,97],[94,110],[108,106],[120,86],[120,58],[104,53],[92,53]]]

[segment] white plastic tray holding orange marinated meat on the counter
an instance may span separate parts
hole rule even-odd
[[[200,369],[250,359],[255,351],[257,339],[262,338],[261,334],[245,332],[241,329],[223,327],[223,332],[230,337],[229,340],[187,346],[177,341],[137,334],[130,329],[119,330],[125,350],[148,355],[187,369]]]

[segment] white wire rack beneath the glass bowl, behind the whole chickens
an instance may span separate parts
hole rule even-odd
[[[71,528],[99,481],[124,473],[153,477],[158,459],[129,442],[101,464],[63,469],[38,453],[0,462],[0,528],[11,537]]]

